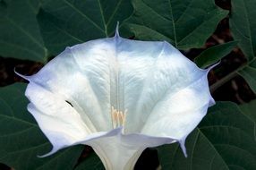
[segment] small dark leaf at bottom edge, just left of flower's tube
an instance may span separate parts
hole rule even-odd
[[[104,170],[104,166],[101,160],[95,153],[91,153],[89,157],[86,157],[84,161],[81,162],[74,170]]]

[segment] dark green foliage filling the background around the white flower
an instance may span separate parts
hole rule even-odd
[[[233,83],[235,89],[234,80],[244,79],[255,93],[256,1],[232,0],[231,5],[229,2],[0,0],[0,61],[3,62],[0,63],[0,71],[6,67],[4,64],[9,64],[13,72],[13,61],[32,68],[41,67],[65,47],[113,36],[119,21],[122,37],[166,40],[183,50],[185,55],[191,56],[201,68],[222,59],[223,62],[209,75],[217,77],[210,80],[210,89],[217,99],[226,100],[225,95],[233,95],[234,91],[229,91],[231,86],[225,86]],[[220,6],[225,9],[217,4],[222,4]],[[230,30],[227,28],[231,33],[228,33],[230,38],[224,38],[224,41],[228,41],[226,43],[219,40],[216,46],[209,45],[211,39],[215,38],[214,31],[221,20],[226,21],[227,27],[230,26]],[[230,52],[233,55],[228,55]],[[240,55],[237,57],[235,54]],[[226,60],[229,65],[225,65]],[[236,60],[239,62],[234,63]],[[36,72],[24,67],[20,70],[25,74]],[[5,74],[1,75],[4,77]],[[1,163],[17,170],[104,169],[97,155],[84,146],[64,149],[51,157],[38,158],[38,155],[47,153],[51,146],[26,109],[26,83],[13,83],[15,81],[20,80],[1,82]],[[183,157],[177,144],[165,145],[146,150],[135,169],[153,169],[158,164],[162,169],[174,170],[256,169],[256,100],[245,81],[241,91],[250,94],[250,98],[246,99],[248,102],[245,103],[235,93],[238,97],[232,99],[233,102],[218,102],[209,108],[208,115],[186,142],[189,157]],[[223,87],[227,89],[226,93],[219,95],[218,89]],[[149,162],[152,157],[154,164]]]

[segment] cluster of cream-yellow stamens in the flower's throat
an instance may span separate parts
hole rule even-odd
[[[116,110],[114,106],[111,106],[111,119],[113,128],[117,128],[125,125],[125,118],[127,114],[127,109],[123,111]]]

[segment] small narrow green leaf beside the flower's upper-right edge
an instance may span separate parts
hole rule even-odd
[[[238,41],[231,41],[214,47],[209,47],[200,55],[194,58],[195,64],[201,68],[206,68],[211,64],[217,63],[221,58],[228,55],[237,45]]]

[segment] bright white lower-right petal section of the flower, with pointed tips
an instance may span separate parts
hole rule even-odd
[[[209,94],[207,71],[187,87],[166,92],[152,110],[141,133],[172,137],[180,141],[185,154],[184,140],[201,122],[214,100]],[[186,155],[186,154],[185,154]]]

